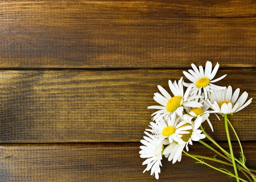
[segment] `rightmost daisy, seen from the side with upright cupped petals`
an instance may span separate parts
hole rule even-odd
[[[248,97],[247,92],[243,92],[242,95],[239,96],[240,89],[236,89],[232,95],[232,87],[229,86],[224,90],[216,90],[209,94],[209,104],[213,110],[218,111],[220,114],[233,114],[236,113],[244,107],[248,106],[253,98],[250,98],[245,104]]]

